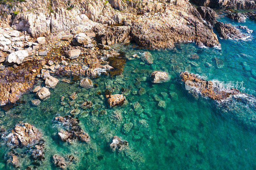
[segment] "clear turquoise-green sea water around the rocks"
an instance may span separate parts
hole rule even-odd
[[[256,96],[255,22],[247,19],[245,23],[237,23],[226,17],[219,20],[248,26],[253,30],[250,40],[219,39],[221,49],[199,48],[194,43],[181,43],[165,50],[145,50],[133,43],[115,45],[113,47],[124,51],[127,58],[148,51],[154,62],[148,65],[140,58],[127,60],[122,75],[102,75],[92,79],[98,84],[96,88],[84,89],[76,80],[72,85],[60,81],[55,89],[50,89],[50,98],[38,107],[30,104],[31,98],[35,98],[34,93],[24,94],[20,100],[25,103],[6,112],[1,110],[0,125],[9,133],[15,124],[23,121],[43,133],[45,160],[39,162],[36,169],[56,169],[52,163],[53,154],[77,157],[78,161],[69,169],[255,169],[255,107],[236,101],[219,104],[201,96],[195,98],[185,90],[179,72],[176,72],[187,70],[206,80],[225,83],[243,81],[243,89],[239,90]],[[189,59],[195,53],[199,59]],[[214,63],[214,57],[223,61],[221,67]],[[205,67],[206,62],[212,67]],[[154,70],[167,71],[171,80],[152,84],[148,77]],[[72,81],[73,77],[68,78]],[[122,88],[130,89],[125,94],[127,103],[109,108],[102,94],[106,89],[112,94],[121,93]],[[72,92],[77,92],[78,98],[68,104]],[[60,105],[61,96],[67,103],[64,107]],[[78,107],[85,100],[91,100],[93,107]],[[159,100],[165,101],[165,108],[158,106]],[[132,106],[135,102],[141,105],[136,112]],[[67,115],[74,108],[80,110],[75,116],[91,137],[89,144],[79,141],[68,144],[57,135],[63,127],[54,118]],[[107,114],[99,116],[97,113],[101,110]],[[124,129],[126,125],[131,128]],[[121,152],[112,152],[109,142],[115,135],[127,140],[129,147]],[[13,169],[6,164],[7,152],[2,140],[0,169]],[[20,169],[34,166],[28,148],[17,148],[16,152],[23,155]]]

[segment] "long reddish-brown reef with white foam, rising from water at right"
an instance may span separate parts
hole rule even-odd
[[[218,87],[217,85],[214,85],[212,81],[205,81],[193,73],[181,72],[180,77],[185,83],[186,89],[198,90],[201,95],[209,97],[212,100],[226,100],[231,95],[241,94],[240,91],[235,88],[226,89]]]

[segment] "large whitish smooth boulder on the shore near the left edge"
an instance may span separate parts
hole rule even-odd
[[[6,57],[5,64],[20,64],[28,55],[27,50],[15,51]]]

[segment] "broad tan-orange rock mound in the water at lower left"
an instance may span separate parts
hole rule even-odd
[[[28,146],[39,141],[42,133],[29,123],[16,125],[12,132],[7,136],[7,143],[17,146]]]

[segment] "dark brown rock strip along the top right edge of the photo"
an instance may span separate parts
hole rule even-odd
[[[255,0],[193,0],[199,6],[219,9],[254,9]]]

